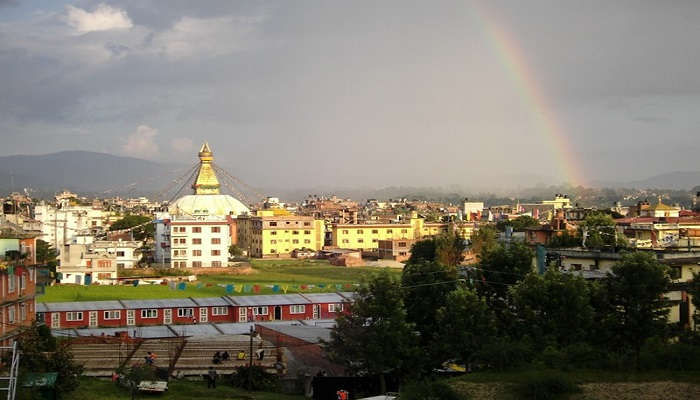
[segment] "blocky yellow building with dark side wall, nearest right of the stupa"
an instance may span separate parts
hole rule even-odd
[[[325,237],[323,220],[298,215],[278,215],[261,210],[237,219],[238,246],[251,257],[289,257],[294,250],[321,250]]]

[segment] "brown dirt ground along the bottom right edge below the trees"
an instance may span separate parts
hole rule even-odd
[[[454,388],[470,400],[511,400],[509,385],[454,382]],[[570,400],[689,400],[700,399],[700,385],[679,382],[586,383]]]

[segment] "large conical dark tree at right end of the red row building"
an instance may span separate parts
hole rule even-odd
[[[349,312],[336,319],[331,340],[324,342],[328,358],[353,373],[399,377],[416,371],[417,338],[406,318],[399,283],[382,271],[358,289]]]

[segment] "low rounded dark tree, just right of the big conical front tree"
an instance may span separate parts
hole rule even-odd
[[[437,314],[439,344],[445,354],[464,362],[475,361],[475,355],[497,334],[493,311],[473,290],[459,288],[449,293]]]

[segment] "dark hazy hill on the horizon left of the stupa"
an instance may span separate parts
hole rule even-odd
[[[178,166],[89,151],[0,157],[0,190],[50,194],[148,194],[174,179]],[[179,171],[180,174],[183,171]]]

